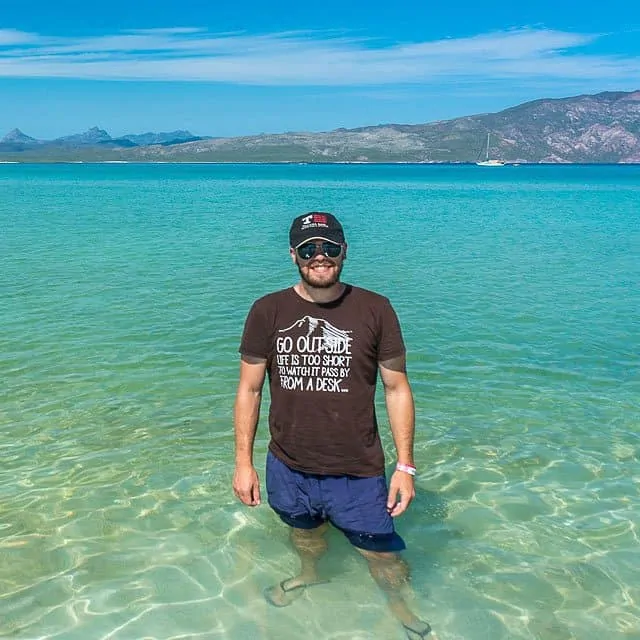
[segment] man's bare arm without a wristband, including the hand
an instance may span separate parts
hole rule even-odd
[[[253,466],[253,443],[260,418],[260,401],[266,370],[266,360],[242,356],[240,380],[233,408],[236,443],[233,491],[249,506],[260,504],[260,480]]]

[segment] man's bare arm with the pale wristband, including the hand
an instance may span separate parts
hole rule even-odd
[[[405,356],[380,362],[380,377],[384,385],[384,398],[398,463],[414,466],[415,407],[407,378]],[[413,476],[396,470],[389,482],[389,513],[393,517],[404,513],[414,497]]]

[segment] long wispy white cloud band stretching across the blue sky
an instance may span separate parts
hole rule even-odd
[[[0,77],[204,81],[270,86],[640,80],[640,60],[596,56],[597,34],[518,29],[381,45],[344,35],[140,29],[88,38],[0,30]]]

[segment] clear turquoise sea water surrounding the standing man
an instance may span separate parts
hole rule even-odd
[[[296,559],[230,490],[244,316],[313,209],[404,327],[411,606],[640,638],[640,167],[365,165],[0,166],[0,637],[404,637],[336,532],[269,607]]]

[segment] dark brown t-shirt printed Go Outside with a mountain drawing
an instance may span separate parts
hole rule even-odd
[[[267,360],[271,452],[306,473],[383,474],[378,363],[404,351],[389,300],[371,291],[347,285],[327,304],[293,288],[257,300],[240,353]]]

